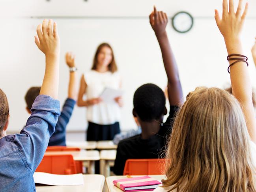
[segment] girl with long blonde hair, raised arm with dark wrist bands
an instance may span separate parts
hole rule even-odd
[[[252,86],[240,39],[242,13],[223,0],[215,19],[228,51],[233,95],[218,88],[196,88],[174,121],[166,153],[166,179],[156,192],[256,191],[256,119]]]

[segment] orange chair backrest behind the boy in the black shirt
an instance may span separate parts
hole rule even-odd
[[[162,175],[165,159],[127,159],[123,175]]]

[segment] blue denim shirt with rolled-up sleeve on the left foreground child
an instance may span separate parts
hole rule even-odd
[[[0,191],[36,191],[34,171],[41,162],[60,115],[60,102],[36,97],[31,116],[20,134],[0,139]]]

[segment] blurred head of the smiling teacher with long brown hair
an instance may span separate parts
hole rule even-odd
[[[117,71],[114,52],[108,43],[101,43],[95,52],[92,70],[96,70],[99,66],[108,67],[112,73]]]

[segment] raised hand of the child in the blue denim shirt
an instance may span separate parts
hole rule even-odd
[[[45,55],[60,54],[60,39],[55,22],[52,23],[51,19],[49,22],[47,19],[43,20],[43,23],[37,26],[36,32],[35,43]]]

